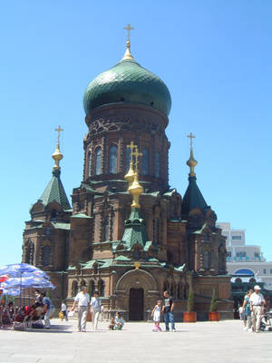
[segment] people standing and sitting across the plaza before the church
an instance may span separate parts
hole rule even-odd
[[[51,329],[50,319],[53,317],[55,308],[52,300],[46,296],[44,291],[35,290],[35,298],[33,305],[26,305],[23,308],[15,307],[14,302],[10,301],[5,303],[1,299],[3,290],[0,289],[0,328],[4,326],[12,326],[19,329],[25,328],[44,328]],[[98,291],[94,291],[91,298],[85,286],[76,295],[73,300],[73,307],[69,312],[65,302],[62,302],[59,317],[60,319],[68,320],[69,315],[77,309],[78,318],[78,331],[86,331],[87,319],[92,319],[92,329],[98,328],[99,317],[102,313],[102,301],[99,298]],[[164,291],[163,299],[159,299],[157,304],[153,307],[151,317],[154,322],[153,331],[160,332],[160,321],[163,319],[165,323],[165,331],[176,331],[174,319],[175,302],[170,296],[169,291]],[[267,319],[266,310],[269,310],[266,300],[260,293],[260,287],[256,285],[254,289],[249,289],[243,305],[240,307],[240,319],[243,320],[244,330],[248,332],[258,333],[262,327],[270,325],[269,317]],[[43,324],[44,320],[44,324]],[[121,330],[125,324],[124,319],[121,317],[121,312],[117,312],[115,317],[109,321],[108,329]]]

